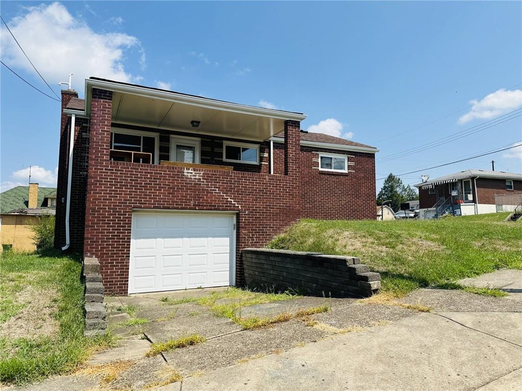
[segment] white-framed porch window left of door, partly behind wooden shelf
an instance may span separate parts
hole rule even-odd
[[[158,133],[127,129],[113,130],[111,131],[111,150],[137,152],[136,156],[131,157],[135,163],[158,164],[158,138]],[[150,156],[150,162],[148,156]],[[126,162],[128,158],[125,154],[111,154],[111,160],[114,161]]]

